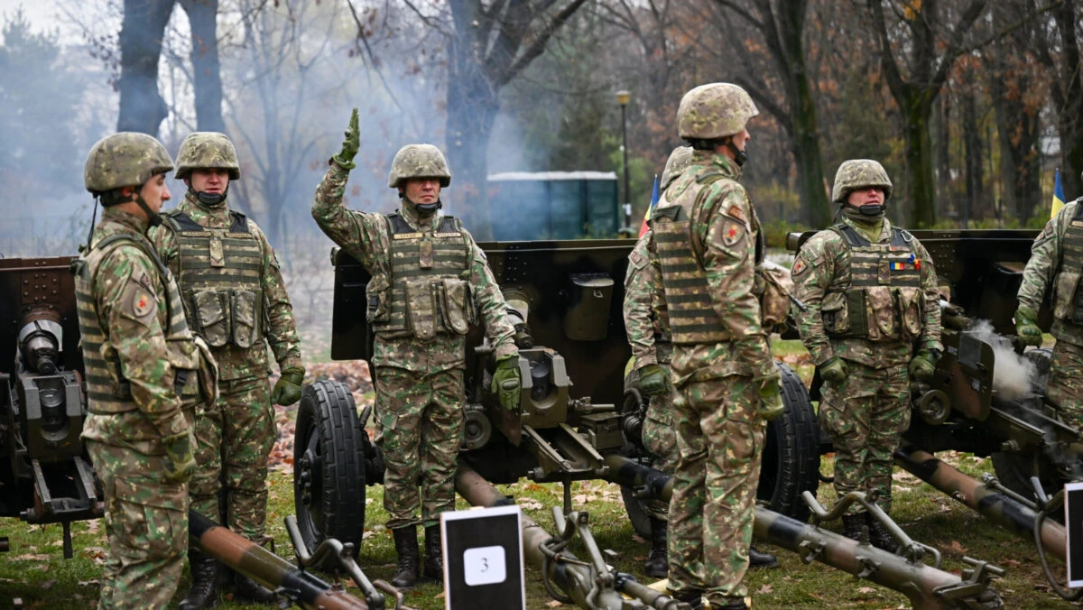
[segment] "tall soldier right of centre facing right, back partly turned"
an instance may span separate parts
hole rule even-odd
[[[669,588],[702,608],[746,608],[753,509],[766,420],[782,412],[780,374],[753,294],[762,249],[738,182],[758,111],[735,85],[684,94],[688,169],[652,219],[674,353],[670,379],[679,458],[669,503]]]

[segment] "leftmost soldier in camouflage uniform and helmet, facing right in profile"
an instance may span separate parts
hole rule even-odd
[[[102,481],[109,554],[99,608],[165,608],[188,537],[196,468],[191,415],[206,352],[188,332],[180,290],[144,236],[169,199],[166,148],[116,133],[90,150],[87,190],[105,210],[73,265],[86,365],[82,438]],[[213,392],[213,376],[208,381]],[[208,394],[209,395],[209,394]],[[198,398],[197,398],[198,400]]]

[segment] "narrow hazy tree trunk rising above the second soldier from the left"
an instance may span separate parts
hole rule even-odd
[[[192,26],[192,72],[196,126],[225,132],[222,119],[222,74],[218,60],[218,0],[181,0]]]

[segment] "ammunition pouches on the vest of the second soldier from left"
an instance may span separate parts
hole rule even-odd
[[[201,288],[188,290],[193,330],[218,349],[233,343],[248,349],[262,336],[262,290]]]

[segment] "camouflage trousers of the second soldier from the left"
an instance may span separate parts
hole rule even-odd
[[[192,509],[248,540],[263,535],[268,456],[278,436],[266,377],[222,379],[213,407],[196,410],[196,463]],[[227,515],[219,515],[225,484]]]

